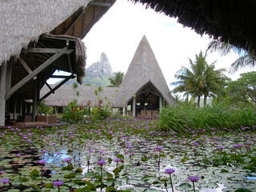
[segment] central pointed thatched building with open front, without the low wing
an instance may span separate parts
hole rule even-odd
[[[119,97],[121,101],[132,106],[134,117],[141,111],[146,113],[146,109],[161,110],[166,103],[174,104],[174,98],[146,36],[139,43],[123,78]]]

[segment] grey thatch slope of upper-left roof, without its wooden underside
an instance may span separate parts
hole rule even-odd
[[[0,65],[91,0],[8,0],[0,6]]]

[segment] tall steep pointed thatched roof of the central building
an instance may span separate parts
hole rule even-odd
[[[150,43],[144,35],[122,80],[120,86],[122,100],[128,102],[142,86],[149,82],[158,89],[158,92],[162,94],[166,102],[170,105],[174,104],[174,98],[170,94],[166,79],[162,74]]]

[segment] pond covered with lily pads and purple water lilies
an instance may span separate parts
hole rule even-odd
[[[250,128],[157,130],[148,119],[0,130],[0,191],[256,191]]]

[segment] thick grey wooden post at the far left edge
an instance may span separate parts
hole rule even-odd
[[[5,126],[6,116],[6,70],[7,63],[0,66],[0,126]]]

